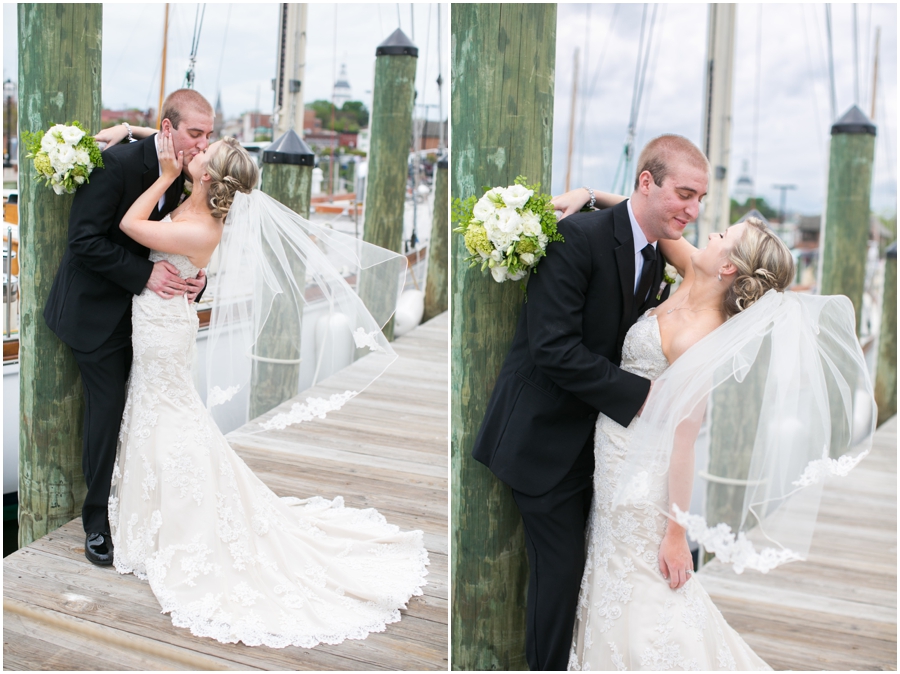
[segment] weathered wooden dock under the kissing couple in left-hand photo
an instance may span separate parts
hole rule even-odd
[[[247,647],[175,628],[146,582],[92,565],[77,519],[4,560],[3,668],[20,670],[448,669],[448,314],[399,338],[400,358],[325,420],[232,446],[280,496],[343,495],[403,529],[422,529],[424,596],[398,623],[362,641],[312,649]],[[353,380],[353,370],[333,380]],[[345,374],[346,373],[346,374]],[[328,382],[301,394],[343,390]],[[289,403],[269,413],[284,411]]]

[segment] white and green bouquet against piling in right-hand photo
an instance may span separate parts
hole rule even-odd
[[[526,185],[524,176],[509,187],[485,188],[480,199],[453,200],[454,232],[463,235],[470,267],[490,269],[497,283],[525,278],[547,254],[547,244],[562,241],[556,213],[540,183]]]

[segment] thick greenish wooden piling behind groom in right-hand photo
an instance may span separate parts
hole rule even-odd
[[[516,176],[550,187],[556,5],[461,4],[451,17],[452,196]],[[518,283],[469,269],[451,246],[451,662],[457,670],[527,669],[528,560],[509,487],[472,445],[522,305]]]

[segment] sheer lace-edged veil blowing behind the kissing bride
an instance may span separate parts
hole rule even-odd
[[[249,396],[250,388],[278,385],[295,395],[366,356],[352,389],[295,402],[242,429],[259,432],[324,417],[377,379],[396,359],[382,328],[406,264],[403,255],[310,222],[259,190],[235,194],[209,288],[206,405],[219,427],[231,430],[235,419],[267,411],[258,403],[265,396]]]

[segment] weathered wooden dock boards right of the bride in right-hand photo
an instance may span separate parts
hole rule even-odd
[[[768,574],[713,562],[716,606],[776,670],[897,669],[897,417],[825,487],[809,559]]]

